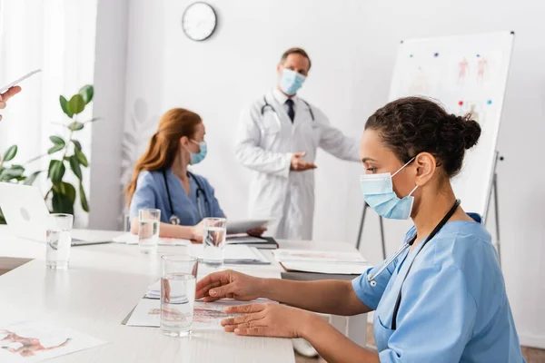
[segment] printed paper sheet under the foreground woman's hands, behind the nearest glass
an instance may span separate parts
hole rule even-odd
[[[235,315],[223,312],[227,306],[247,305],[255,303],[276,303],[269,299],[256,299],[253,301],[236,301],[223,299],[214,302],[195,301],[193,310],[193,330],[221,330],[221,321]],[[158,299],[141,299],[133,311],[133,315],[127,321],[127,326],[132,327],[156,327],[161,325],[161,301]]]

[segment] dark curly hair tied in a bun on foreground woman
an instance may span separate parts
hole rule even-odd
[[[421,97],[386,104],[367,120],[367,129],[378,132],[403,163],[420,152],[430,152],[450,178],[461,171],[465,151],[481,136],[481,126],[470,115],[447,113],[438,103]]]

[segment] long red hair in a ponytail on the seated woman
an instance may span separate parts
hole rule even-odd
[[[197,113],[183,108],[173,108],[161,116],[157,132],[150,139],[147,150],[134,165],[133,177],[125,190],[128,204],[133,199],[140,172],[170,169],[176,155],[180,152],[180,139],[183,136],[192,138],[196,126],[202,122],[201,116]]]

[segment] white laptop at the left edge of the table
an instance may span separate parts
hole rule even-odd
[[[0,208],[16,237],[45,242],[49,211],[40,190],[30,185],[0,182]],[[112,242],[111,232],[72,231],[72,245]]]

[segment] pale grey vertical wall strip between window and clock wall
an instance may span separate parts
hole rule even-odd
[[[96,13],[93,114],[102,120],[92,129],[89,228],[117,230],[128,2],[98,0]]]

